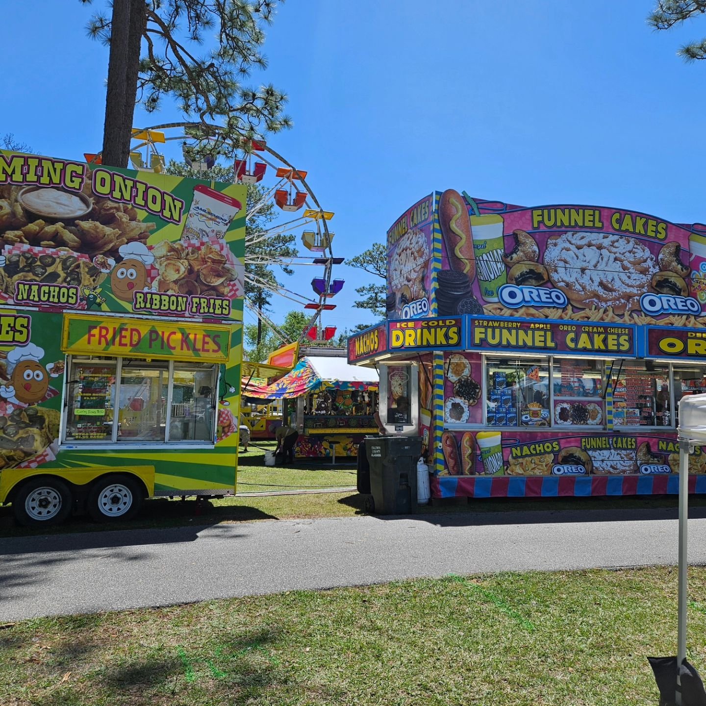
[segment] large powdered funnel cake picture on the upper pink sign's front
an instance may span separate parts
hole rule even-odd
[[[637,239],[611,233],[568,232],[547,239],[544,266],[573,306],[610,306],[616,314],[640,309],[659,271]]]

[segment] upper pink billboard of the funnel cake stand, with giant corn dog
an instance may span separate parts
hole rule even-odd
[[[424,229],[400,237],[407,245],[388,260],[396,313],[400,297],[424,289],[427,299],[433,292],[429,313],[414,316],[706,324],[704,225],[604,206],[525,208],[455,189],[438,193],[436,203],[431,243]]]

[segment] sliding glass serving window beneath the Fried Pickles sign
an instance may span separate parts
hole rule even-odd
[[[217,372],[208,363],[70,359],[64,441],[213,442]]]

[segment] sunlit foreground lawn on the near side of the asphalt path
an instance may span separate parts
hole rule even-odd
[[[706,665],[706,569],[689,658]],[[4,706],[657,706],[676,570],[505,573],[42,618],[0,631]]]

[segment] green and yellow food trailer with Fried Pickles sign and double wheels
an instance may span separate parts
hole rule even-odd
[[[234,493],[246,188],[0,167],[0,502],[51,525]]]

